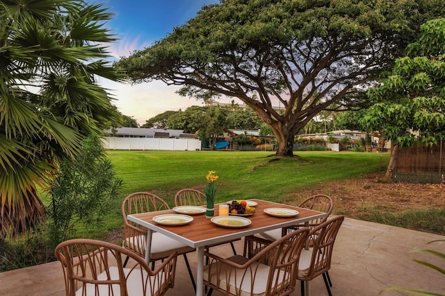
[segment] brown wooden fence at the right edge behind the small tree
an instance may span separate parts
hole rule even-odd
[[[441,183],[445,174],[445,142],[398,150],[394,180],[414,183]]]

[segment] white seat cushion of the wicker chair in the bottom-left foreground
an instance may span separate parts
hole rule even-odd
[[[128,295],[144,295],[143,293],[143,282],[147,284],[147,291],[145,295],[152,295],[152,292],[156,292],[158,287],[163,285],[165,277],[148,277],[145,270],[133,270],[132,268],[124,268],[124,275],[127,277],[127,294]],[[141,275],[142,272],[142,275]],[[97,279],[104,281],[107,279],[119,280],[119,268],[117,266],[111,266],[108,268],[107,272],[104,271],[97,275]],[[152,285],[152,286],[151,286]],[[96,291],[97,289],[97,291]],[[97,292],[97,293],[96,293]],[[120,295],[119,284],[85,284],[76,291],[76,295],[88,296],[88,295]]]

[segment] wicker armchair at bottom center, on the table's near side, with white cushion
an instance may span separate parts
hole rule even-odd
[[[301,228],[274,242],[248,236],[245,256],[228,259],[205,252],[211,260],[204,266],[204,285],[211,288],[208,295],[213,289],[236,296],[289,295],[296,289],[297,265],[308,234],[308,228]]]

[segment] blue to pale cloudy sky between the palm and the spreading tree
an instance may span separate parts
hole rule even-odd
[[[107,26],[120,39],[108,50],[116,58],[144,49],[168,35],[175,26],[195,17],[203,5],[219,0],[102,0],[115,17]],[[100,82],[111,89],[111,94],[122,114],[133,116],[139,124],[167,110],[185,110],[191,105],[202,105],[193,98],[184,98],[160,81],[140,85],[125,85],[110,81]]]

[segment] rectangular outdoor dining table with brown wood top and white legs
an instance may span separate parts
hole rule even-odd
[[[160,232],[170,238],[174,238],[181,243],[190,247],[197,248],[197,272],[196,272],[196,295],[203,294],[204,281],[204,247],[215,243],[223,243],[233,241],[237,238],[259,234],[271,229],[288,227],[300,223],[309,223],[310,220],[323,218],[326,213],[313,211],[299,207],[293,207],[288,204],[280,204],[277,202],[269,202],[266,200],[251,200],[257,202],[255,213],[248,218],[252,223],[245,227],[232,228],[222,227],[211,222],[210,218],[206,218],[205,214],[194,215],[193,220],[186,225],[161,225],[152,220],[155,216],[163,214],[177,214],[173,210],[152,211],[148,213],[128,215],[128,220],[146,227],[147,230],[147,248],[145,250],[145,261],[149,262],[150,247],[152,245],[152,232]],[[292,217],[270,216],[264,212],[268,208],[285,208],[298,211],[298,215]],[[218,216],[218,204],[215,206],[215,216]],[[310,293],[309,281],[307,281],[306,293]]]

